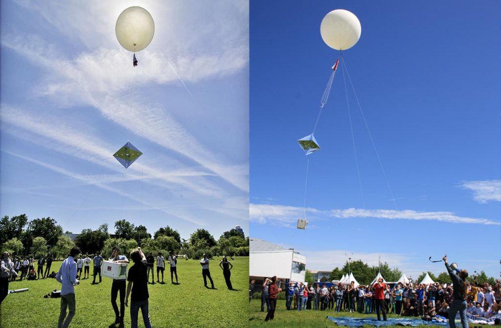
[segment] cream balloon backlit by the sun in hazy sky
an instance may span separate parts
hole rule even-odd
[[[115,25],[118,42],[128,51],[141,51],[148,47],[155,23],[150,13],[141,7],[129,7],[120,14]]]

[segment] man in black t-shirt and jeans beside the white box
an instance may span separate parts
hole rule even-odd
[[[132,290],[130,297],[130,320],[131,328],[137,328],[137,313],[141,308],[145,328],[152,328],[150,322],[150,314],[148,313],[148,276],[146,257],[144,256],[141,248],[133,250],[130,253],[130,259],[134,265],[129,269],[127,276],[127,295],[125,296],[125,306],[129,302],[129,294]]]

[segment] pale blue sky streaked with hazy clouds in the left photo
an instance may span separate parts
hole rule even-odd
[[[155,22],[137,67],[115,37],[130,6]],[[1,70],[2,215],[248,235],[246,2],[2,2]]]

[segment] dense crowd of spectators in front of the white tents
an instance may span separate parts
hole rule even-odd
[[[428,284],[398,282],[391,285],[384,283],[382,278],[371,285],[355,285],[353,281],[349,284],[315,283],[313,285],[289,282],[284,288],[285,306],[287,310],[298,311],[333,310],[335,312],[376,313],[378,319],[380,319],[380,314],[383,314],[384,320],[386,320],[387,313],[426,319],[435,315],[449,318],[451,306],[454,300],[457,300],[461,303],[464,301],[465,311],[477,317],[488,318],[500,314],[501,283],[499,279],[493,285],[486,282],[480,284],[475,279],[471,280],[471,282],[461,280],[461,283],[463,281],[466,283],[466,294],[454,293],[454,281]],[[254,280],[250,282],[249,299],[252,298],[254,284]],[[276,303],[273,303],[270,296],[272,285],[273,281],[265,278],[261,294],[262,312],[271,310],[274,312]],[[327,287],[328,285],[331,286]],[[456,287],[456,289],[461,289],[461,287]]]

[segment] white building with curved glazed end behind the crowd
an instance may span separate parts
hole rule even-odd
[[[249,238],[249,278],[263,277],[281,280],[305,281],[306,256],[271,242]]]

